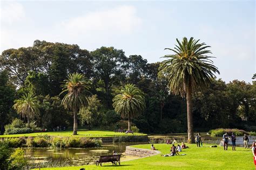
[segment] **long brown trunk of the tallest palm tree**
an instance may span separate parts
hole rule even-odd
[[[193,115],[192,115],[192,86],[188,83],[186,90],[187,98],[187,143],[194,143]]]

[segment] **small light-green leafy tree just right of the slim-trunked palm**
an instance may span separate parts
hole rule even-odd
[[[89,129],[93,125],[97,125],[99,122],[99,117],[102,114],[103,105],[98,100],[97,95],[92,95],[88,97],[89,105],[88,107],[83,107],[79,110],[79,116],[81,118],[82,124],[87,123],[89,125]]]

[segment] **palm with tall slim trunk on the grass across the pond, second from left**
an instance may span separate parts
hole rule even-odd
[[[68,80],[64,80],[62,87],[62,92],[59,95],[68,92],[62,100],[62,105],[73,111],[73,135],[77,135],[77,112],[80,108],[87,107],[89,103],[87,98],[87,95],[90,94],[89,83],[83,74],[73,73],[69,74]]]

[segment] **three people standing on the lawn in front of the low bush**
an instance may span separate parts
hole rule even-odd
[[[227,150],[227,145],[229,140],[231,140],[232,142],[232,150],[235,151],[235,146],[236,146],[235,141],[237,141],[237,137],[233,132],[231,134],[231,139],[228,136],[227,132],[225,132],[225,134],[223,134],[223,139],[221,140],[220,144],[224,146],[224,150]],[[244,147],[249,148],[248,147],[249,137],[247,136],[247,134],[244,134],[244,137],[242,138],[242,140],[244,141]]]

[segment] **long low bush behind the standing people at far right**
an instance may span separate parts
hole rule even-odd
[[[244,134],[249,134],[248,132],[240,129],[213,129],[208,131],[209,134],[211,134],[212,137],[221,137],[223,134],[227,132],[228,135],[231,136],[232,132],[235,133],[236,136],[243,136]]]

